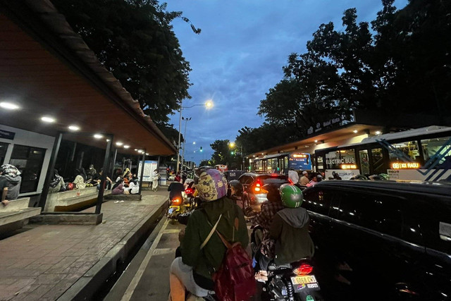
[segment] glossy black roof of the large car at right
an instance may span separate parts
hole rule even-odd
[[[369,188],[421,192],[451,197],[451,183],[394,180],[323,180],[314,185],[321,188]]]

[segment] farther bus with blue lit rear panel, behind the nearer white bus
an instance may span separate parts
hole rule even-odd
[[[252,170],[254,171],[288,173],[290,168],[295,171],[311,171],[310,154],[301,152],[270,154],[254,159],[252,162]]]

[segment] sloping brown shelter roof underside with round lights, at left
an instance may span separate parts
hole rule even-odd
[[[122,142],[125,154],[175,154],[175,146],[140,109],[121,83],[99,62],[47,0],[0,0],[0,123],[35,133],[66,135],[75,142],[106,147],[106,137]],[[42,122],[51,116],[54,123]],[[121,145],[121,147],[123,147]]]

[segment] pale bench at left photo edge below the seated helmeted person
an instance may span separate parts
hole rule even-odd
[[[28,219],[41,213],[40,207],[28,207],[30,197],[10,201],[8,206],[0,205],[0,233],[22,228]]]

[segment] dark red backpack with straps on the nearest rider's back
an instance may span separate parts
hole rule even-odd
[[[223,244],[226,245],[227,252],[218,271],[213,274],[214,292],[218,300],[247,301],[255,294],[256,289],[252,260],[240,242],[232,245],[216,230],[221,216],[222,214],[211,229],[209,236],[202,243],[201,250],[216,231]]]

